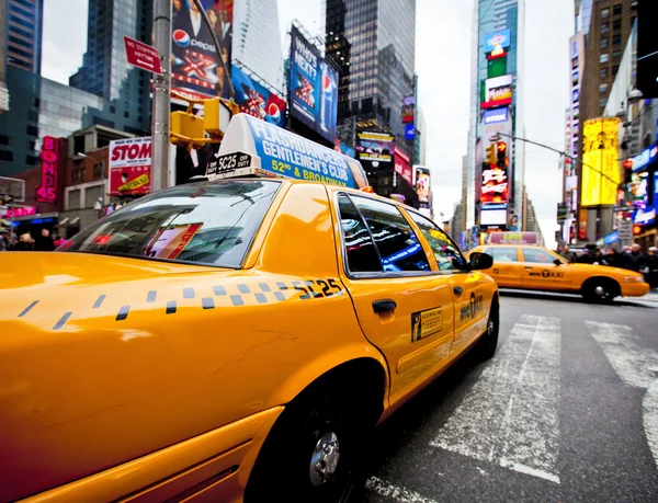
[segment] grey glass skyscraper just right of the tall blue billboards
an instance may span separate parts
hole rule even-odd
[[[412,157],[401,108],[404,99],[415,96],[416,0],[327,0],[325,30],[327,56],[340,68],[339,123],[353,118],[356,132],[393,134],[396,147]],[[377,194],[411,192],[404,181],[394,187],[390,144],[377,141],[376,148],[388,153],[361,160]]]

